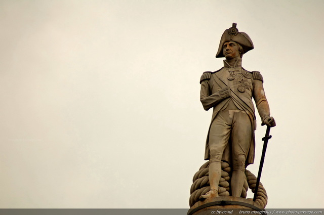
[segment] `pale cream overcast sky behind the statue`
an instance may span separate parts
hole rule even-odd
[[[268,208],[323,208],[324,1],[0,1],[0,207],[188,208],[237,23],[271,115]],[[257,116],[258,173],[265,127]],[[249,190],[248,197],[253,197]]]

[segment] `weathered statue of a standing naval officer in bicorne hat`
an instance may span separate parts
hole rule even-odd
[[[275,126],[262,75],[241,67],[242,56],[252,49],[251,38],[239,32],[233,23],[224,31],[216,55],[216,58],[226,58],[224,67],[215,72],[204,72],[200,78],[200,101],[205,110],[213,107],[205,151],[205,160],[210,160],[211,190],[200,199],[218,196],[221,161],[231,164],[231,195],[240,197],[245,168],[254,161],[256,116],[252,98],[262,125]]]

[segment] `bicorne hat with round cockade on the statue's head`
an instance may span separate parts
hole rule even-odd
[[[232,27],[226,29],[221,37],[216,58],[225,57],[223,54],[223,45],[224,42],[227,41],[237,42],[244,49],[244,53],[247,53],[250,50],[254,49],[253,42],[250,36],[245,32],[239,32],[238,29],[236,28],[236,23],[233,23]]]

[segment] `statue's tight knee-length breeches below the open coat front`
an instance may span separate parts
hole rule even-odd
[[[225,148],[230,143],[233,169],[245,168],[251,138],[252,125],[246,112],[240,110],[219,112],[210,128],[210,162],[220,162]]]

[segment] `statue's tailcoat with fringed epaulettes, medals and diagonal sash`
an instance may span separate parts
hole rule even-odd
[[[211,124],[217,114],[220,111],[227,110],[227,107],[230,107],[230,109],[234,107],[236,110],[245,111],[249,115],[252,126],[251,144],[246,160],[246,165],[249,165],[254,162],[254,130],[256,129],[255,109],[252,98],[255,100],[262,121],[270,116],[270,110],[264,93],[263,78],[260,72],[245,70],[240,66],[240,59],[235,65],[231,68],[224,61],[224,67],[220,70],[203,73],[200,78],[200,101],[205,110],[213,107]],[[230,94],[229,97],[227,92]],[[209,134],[212,132],[217,131],[211,131],[210,126],[206,140],[205,160],[209,160],[210,158]],[[227,144],[223,152],[222,160],[226,162],[231,161],[230,144]]]

